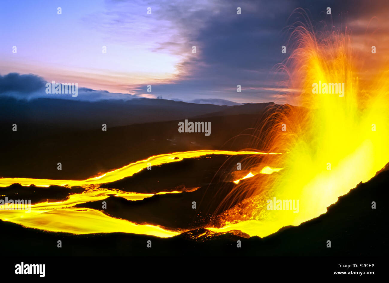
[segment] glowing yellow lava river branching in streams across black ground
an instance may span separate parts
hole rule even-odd
[[[42,229],[51,232],[68,232],[73,234],[107,233],[107,232],[127,232],[135,234],[145,234],[158,237],[172,237],[182,231],[169,231],[156,225],[140,225],[127,220],[109,217],[101,211],[89,208],[74,208],[76,204],[88,201],[99,201],[105,199],[109,194],[124,197],[128,200],[141,200],[154,194],[141,194],[134,192],[124,192],[116,189],[102,189],[99,184],[114,182],[147,168],[149,164],[153,166],[170,162],[182,161],[185,158],[197,158],[205,155],[267,155],[275,153],[249,152],[249,151],[224,151],[224,150],[197,150],[187,152],[175,152],[171,154],[160,154],[148,159],[131,163],[114,171],[107,172],[101,176],[88,178],[86,180],[49,180],[33,178],[0,178],[0,187],[7,187],[14,183],[24,186],[36,185],[39,187],[49,187],[50,185],[61,186],[81,186],[86,189],[79,194],[71,194],[65,201],[43,202],[32,204],[30,209],[26,207],[21,210],[4,209],[6,204],[0,206],[0,219],[14,222],[25,227]],[[166,194],[168,192],[159,192]],[[178,191],[170,193],[180,193]],[[23,210],[24,209],[24,210]]]

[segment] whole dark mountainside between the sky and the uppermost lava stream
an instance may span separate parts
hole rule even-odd
[[[252,138],[240,134],[251,134],[256,123],[265,119],[269,105],[274,103],[217,106],[159,99],[5,100],[0,106],[4,110],[0,130],[7,134],[0,138],[0,146],[7,148],[2,155],[7,162],[0,162],[1,176],[85,179],[156,154],[242,150],[252,146]],[[211,135],[179,133],[178,123],[184,119],[211,122]],[[146,122],[152,120],[158,122]],[[18,131],[12,131],[13,123]],[[103,123],[107,131],[102,131]],[[58,162],[62,170],[57,170]]]

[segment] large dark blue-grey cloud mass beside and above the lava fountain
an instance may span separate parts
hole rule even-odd
[[[242,8],[241,15],[237,7]],[[327,7],[331,15],[326,14]],[[196,13],[185,13],[177,5],[164,8],[163,19],[174,18],[188,50],[196,45],[197,53],[178,66],[177,79],[153,86],[153,92],[182,100],[196,96],[258,102],[273,100],[285,79],[274,71],[290,54],[281,53],[281,47],[288,46],[288,26],[301,21],[318,29],[344,30],[355,19],[368,21],[380,9],[387,10],[387,5],[382,0],[223,0],[214,9]],[[237,93],[237,84],[242,93]]]

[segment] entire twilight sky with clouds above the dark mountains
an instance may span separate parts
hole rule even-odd
[[[281,48],[287,45],[287,26],[298,19],[295,9],[305,9],[313,23],[348,26],[355,47],[377,45],[387,59],[388,5],[381,0],[2,2],[0,95],[50,97],[42,85],[54,80],[81,87],[81,95],[67,99],[282,102],[279,94],[287,89],[275,66],[286,59]]]

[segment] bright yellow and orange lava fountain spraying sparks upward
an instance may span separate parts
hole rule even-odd
[[[356,51],[347,28],[318,32],[299,23],[291,40],[288,50],[293,52],[279,70],[286,71],[289,89],[299,90],[288,96],[299,107],[273,109],[266,121],[270,130],[261,131],[270,151],[285,153],[264,156],[261,162],[284,169],[271,178],[240,182],[235,193],[247,198],[218,215],[212,231],[236,229],[264,237],[299,225],[326,213],[339,196],[368,181],[389,161],[388,65],[362,72],[364,58],[377,54],[371,47]],[[315,84],[322,86],[321,93]],[[344,84],[343,95],[329,93],[326,84]],[[298,213],[282,204],[274,210],[269,205],[274,197],[283,203],[298,200]]]

